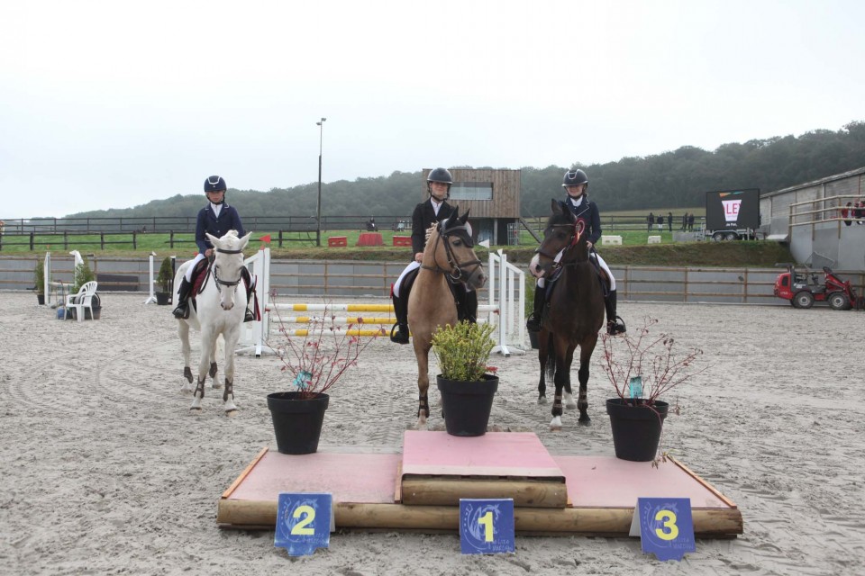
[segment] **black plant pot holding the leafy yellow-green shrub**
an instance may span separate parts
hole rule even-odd
[[[444,429],[451,436],[483,436],[487,434],[493,396],[498,390],[498,376],[484,374],[478,382],[447,380],[435,377],[442,393]]]

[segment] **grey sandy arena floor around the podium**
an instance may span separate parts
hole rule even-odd
[[[0,295],[0,572],[10,574],[853,574],[863,573],[865,313],[624,302],[710,368],[677,390],[665,446],[736,502],[744,535],[697,541],[681,563],[628,538],[522,537],[515,554],[463,556],[457,535],[350,533],[289,558],[273,532],[220,530],[216,502],[262,446],[275,446],[266,395],[287,389],[272,357],[238,358],[227,419],[221,392],[188,412],[178,393],[175,320],[141,294],[105,294],[101,320],[60,321],[32,293]],[[312,302],[312,301],[309,301]],[[194,348],[197,357],[197,348]],[[535,432],[555,451],[612,455],[593,359],[593,426],[566,414],[553,434],[535,403],[537,359],[496,356],[491,425]],[[431,368],[431,374],[435,366]],[[576,374],[575,374],[576,375]],[[327,446],[401,446],[414,423],[411,347],[385,339],[332,389]],[[576,380],[576,378],[575,378]],[[431,390],[431,401],[438,392]],[[668,399],[669,400],[669,399]],[[433,428],[441,417],[433,415]],[[314,488],[314,487],[311,487]],[[8,572],[7,572],[8,571]]]

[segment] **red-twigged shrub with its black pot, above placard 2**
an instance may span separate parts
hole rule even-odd
[[[281,340],[268,346],[276,350],[281,372],[293,388],[268,395],[277,449],[281,454],[312,454],[318,450],[324,410],[330,402],[328,391],[378,337],[361,339],[352,334],[357,332],[353,324],[338,325],[333,316],[311,319],[305,336],[289,336],[279,311],[275,314]]]

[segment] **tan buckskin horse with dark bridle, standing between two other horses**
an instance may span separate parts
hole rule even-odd
[[[427,230],[421,269],[408,296],[408,327],[412,334],[414,356],[417,358],[418,408],[416,428],[424,428],[430,416],[427,391],[430,387],[429,363],[432,332],[440,326],[457,323],[457,305],[450,282],[467,284],[479,290],[486,284],[478,256],[471,239],[469,211],[459,216],[454,206],[451,217],[433,224]]]

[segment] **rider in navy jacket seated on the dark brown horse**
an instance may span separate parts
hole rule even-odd
[[[610,289],[604,296],[606,333],[611,335],[622,334],[627,329],[624,326],[624,320],[615,314],[615,277],[610,272],[609,266],[606,266],[604,258],[600,257],[594,249],[598,238],[601,238],[601,217],[597,211],[596,203],[588,199],[588,176],[582,170],[568,171],[565,173],[561,185],[564,187],[565,192],[568,193],[568,200],[565,203],[568,204],[568,207],[574,212],[577,219],[583,220],[583,223],[586,225],[589,256],[596,260],[597,265],[604,270],[606,277],[610,281]],[[545,280],[540,278],[534,290],[534,311],[525,321],[525,327],[533,332],[541,329],[541,314],[544,302],[546,302],[545,286]]]

